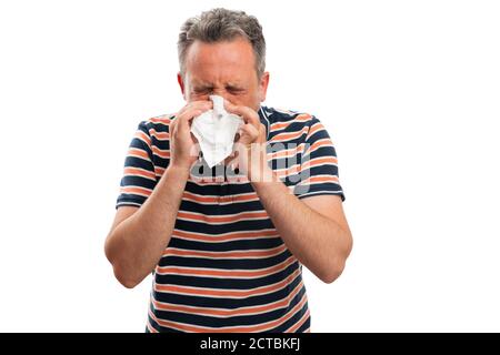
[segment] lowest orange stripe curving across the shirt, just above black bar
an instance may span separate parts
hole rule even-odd
[[[211,328],[211,327],[203,327],[203,326],[193,326],[193,325],[189,325],[189,324],[182,324],[182,323],[177,323],[177,322],[158,320],[154,316],[154,314],[152,314],[151,310],[149,310],[149,314],[160,325],[168,326],[168,327],[173,327],[173,328],[178,328],[178,329],[183,329],[186,332],[212,332],[212,333],[243,332],[243,333],[250,333],[250,332],[260,332],[260,331],[273,328],[273,327],[276,327],[276,326],[278,326],[280,324],[283,324],[289,318],[291,318],[292,315],[294,313],[297,313],[297,311],[299,308],[303,307],[306,302],[307,302],[307,297],[306,297],[306,294],[303,294],[301,301],[284,317],[282,317],[280,320],[272,321],[272,322],[268,322],[268,323],[264,323],[264,324],[259,324],[259,325],[254,325],[254,326],[241,326],[241,327]]]

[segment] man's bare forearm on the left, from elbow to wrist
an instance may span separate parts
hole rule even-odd
[[[109,237],[117,277],[130,286],[152,272],[170,242],[189,171],[169,166],[151,195]]]

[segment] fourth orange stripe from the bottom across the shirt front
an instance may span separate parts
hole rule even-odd
[[[177,267],[177,266],[157,266],[158,274],[179,274],[179,275],[198,275],[198,276],[226,276],[230,278],[236,277],[258,277],[271,275],[278,271],[282,271],[293,264],[297,260],[293,256],[290,256],[284,262],[279,263],[278,265],[267,267],[260,271],[251,271],[251,270],[202,270],[202,268],[193,268],[193,267]]]

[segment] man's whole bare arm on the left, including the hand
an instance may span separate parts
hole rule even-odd
[[[104,252],[118,281],[128,288],[154,270],[170,242],[190,168],[198,156],[190,122],[211,108],[211,101],[193,101],[177,113],[169,128],[170,162],[160,181],[139,209],[117,211]]]

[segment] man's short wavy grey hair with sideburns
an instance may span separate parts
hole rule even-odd
[[[230,41],[238,37],[248,39],[252,44],[257,77],[261,78],[266,69],[266,40],[262,27],[253,16],[222,8],[204,11],[182,24],[177,42],[181,75],[184,77],[186,54],[192,42],[199,40],[213,43]]]

